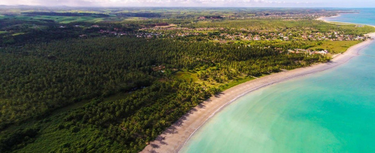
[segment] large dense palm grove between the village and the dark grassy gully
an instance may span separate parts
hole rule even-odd
[[[0,93],[6,99],[1,109],[7,110],[1,115],[3,125],[81,99],[148,86],[148,76],[160,75],[153,65],[175,69],[218,65],[229,72],[259,76],[306,66],[295,61],[313,63],[323,58],[237,44],[127,37],[28,44],[4,48],[1,54]]]

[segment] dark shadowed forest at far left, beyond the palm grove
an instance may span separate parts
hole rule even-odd
[[[99,30],[113,30],[120,28],[122,31],[133,31],[138,27],[136,24],[121,23],[102,23],[101,28],[82,28],[81,26],[92,26],[93,23],[69,23],[59,25],[52,20],[37,19],[29,20],[0,20],[0,31],[14,31],[14,34],[3,34],[0,39],[0,47],[4,46],[22,46],[26,43],[50,42],[52,40],[85,37],[97,37],[104,34],[98,33]],[[110,25],[110,26],[108,26]],[[106,27],[104,27],[106,26]]]

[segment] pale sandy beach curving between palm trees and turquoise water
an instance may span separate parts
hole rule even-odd
[[[335,16],[336,17],[336,16]],[[318,18],[316,20],[324,20]],[[373,26],[375,27],[375,26]],[[365,34],[372,38],[375,33]],[[267,75],[262,78],[248,81],[239,84],[235,87],[229,88],[219,95],[212,96],[210,99],[202,102],[185,115],[179,118],[175,123],[168,127],[162,134],[157,136],[154,141],[151,141],[140,153],[178,153],[186,144],[190,137],[198,130],[206,121],[208,121],[214,114],[222,110],[226,105],[231,104],[240,97],[263,87],[290,80],[293,78],[303,77],[306,75],[322,72],[327,69],[335,68],[342,65],[353,57],[359,55],[359,51],[368,46],[374,39],[368,39],[354,46],[351,46],[343,54],[338,54],[330,62],[319,63],[309,67],[293,69],[287,72],[279,72],[276,74]],[[153,145],[151,145],[153,144]]]

